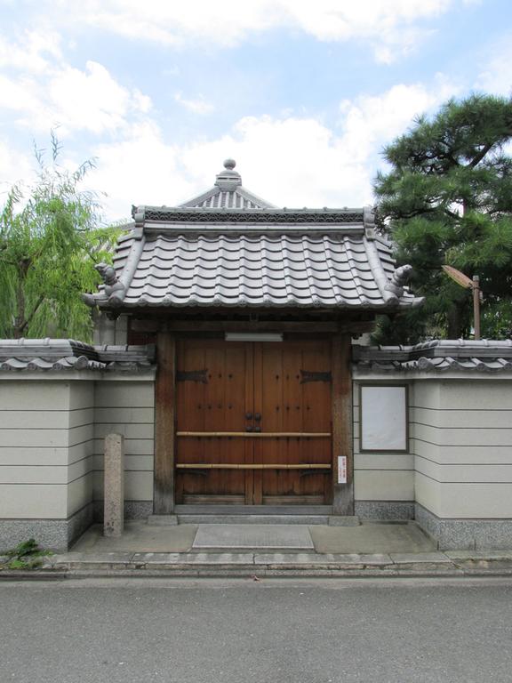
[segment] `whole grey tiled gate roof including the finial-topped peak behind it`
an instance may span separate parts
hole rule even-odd
[[[133,207],[103,308],[383,309],[420,303],[396,281],[388,243],[363,209],[278,209],[225,162],[215,187],[177,207]],[[117,279],[117,284],[116,284]]]

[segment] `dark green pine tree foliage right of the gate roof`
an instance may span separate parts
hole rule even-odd
[[[512,100],[475,94],[449,100],[429,120],[384,149],[391,170],[375,181],[381,232],[410,263],[422,311],[383,320],[380,342],[468,336],[472,295],[441,270],[445,263],[478,275],[484,293],[482,334],[510,334],[512,318]]]

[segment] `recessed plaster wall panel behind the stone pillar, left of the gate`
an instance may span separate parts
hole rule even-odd
[[[103,500],[104,439],[124,436],[124,498],[153,501],[155,383],[98,382],[94,409],[93,497]]]

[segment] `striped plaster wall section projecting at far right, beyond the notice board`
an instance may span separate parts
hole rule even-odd
[[[415,382],[416,500],[441,518],[512,518],[512,381]]]

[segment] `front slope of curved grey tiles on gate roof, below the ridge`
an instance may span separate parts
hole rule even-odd
[[[369,251],[391,277],[388,245],[363,233],[148,236],[124,306],[379,308]]]

